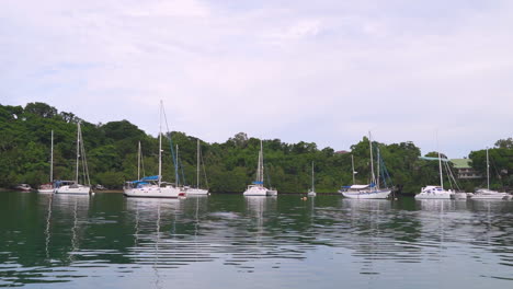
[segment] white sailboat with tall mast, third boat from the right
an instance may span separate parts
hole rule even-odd
[[[389,188],[380,188],[379,187],[379,169],[377,178],[374,173],[374,158],[373,158],[373,141],[371,137],[371,131],[368,132],[368,144],[371,150],[371,184],[368,185],[355,185],[353,181],[353,185],[351,186],[343,186],[339,193],[346,198],[356,198],[356,199],[385,199],[387,198],[391,189]],[[378,157],[378,165],[380,159]],[[353,180],[354,180],[354,164],[353,164]]]

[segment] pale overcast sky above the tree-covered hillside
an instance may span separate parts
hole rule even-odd
[[[513,1],[1,0],[0,103],[461,158],[513,130]]]

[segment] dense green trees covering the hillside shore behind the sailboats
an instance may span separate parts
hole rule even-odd
[[[93,125],[72,113],[59,113],[44,103],[30,103],[25,107],[0,105],[0,187],[18,183],[35,187],[48,182],[50,130],[54,130],[55,142],[54,178],[73,180],[77,122],[82,124],[93,184],[121,188],[125,181],[137,178],[138,141],[142,147],[145,175],[158,173],[158,139],[127,120]],[[182,178],[180,182],[195,184],[196,138],[176,131],[169,135],[180,148],[180,172],[183,171],[185,176],[185,181]],[[511,181],[509,172],[513,172],[513,167],[510,167],[513,165],[510,142],[511,139],[499,141],[504,147],[490,151],[500,181],[508,184]],[[166,181],[174,182],[170,142],[166,140],[164,143],[162,175]],[[242,192],[254,178],[259,139],[239,132],[224,143],[201,143],[212,192]],[[283,193],[307,192],[312,161],[316,164],[317,192],[337,192],[341,185],[350,185],[351,154],[354,155],[357,172],[356,183],[369,182],[369,144],[366,137],[351,147],[351,153],[335,153],[331,148],[319,150],[311,142],[284,143],[280,139],[264,140],[263,147],[265,182]],[[376,142],[374,147],[379,147],[394,185],[403,192],[415,193],[421,186],[438,183],[437,162],[420,160],[420,149],[412,142]],[[479,172],[486,172],[483,153],[477,151],[470,154]],[[495,182],[495,185],[501,182]]]

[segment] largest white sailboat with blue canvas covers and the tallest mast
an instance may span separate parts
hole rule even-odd
[[[129,186],[125,186],[123,194],[126,197],[142,197],[142,198],[178,198],[185,197],[185,193],[181,192],[178,186],[162,181],[162,114],[163,105],[160,102],[160,126],[159,126],[159,174],[146,176],[138,181],[132,182]]]

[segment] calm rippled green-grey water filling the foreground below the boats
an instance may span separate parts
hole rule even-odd
[[[513,201],[0,193],[0,287],[513,288]]]

